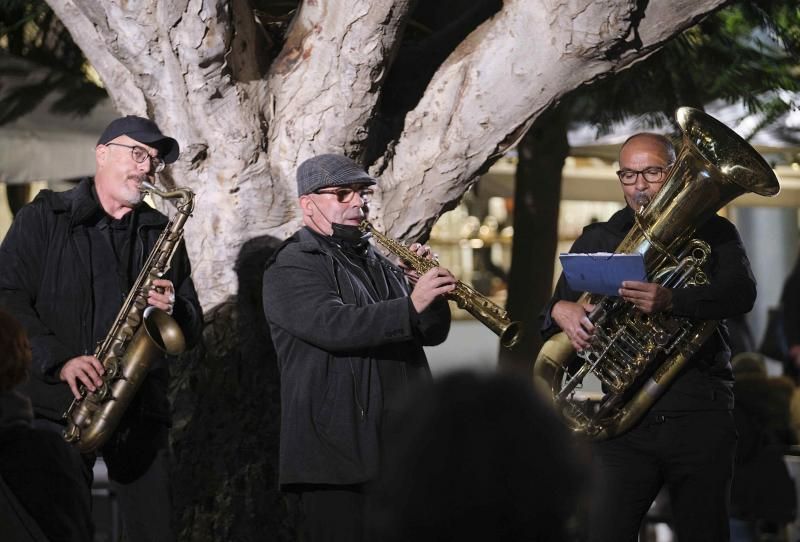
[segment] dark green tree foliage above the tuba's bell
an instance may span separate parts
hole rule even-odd
[[[738,2],[675,37],[631,69],[601,78],[570,96],[573,123],[598,134],[631,116],[651,125],[673,122],[682,105],[742,101],[759,127],[793,107],[777,90],[800,90],[800,9],[795,2]],[[747,137],[748,134],[745,134]]]

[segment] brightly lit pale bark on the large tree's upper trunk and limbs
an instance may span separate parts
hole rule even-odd
[[[263,55],[238,1],[49,3],[117,109],[181,142],[164,181],[198,195],[186,238],[206,307],[235,294],[229,262],[248,239],[298,227],[299,161],[363,153],[409,9],[408,0],[304,2],[268,73],[254,78]],[[422,237],[566,92],[641,60],[723,3],[507,0],[442,64],[371,165],[381,176],[377,224]]]

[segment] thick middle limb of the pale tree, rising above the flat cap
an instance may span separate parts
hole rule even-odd
[[[302,4],[268,79],[274,177],[294,179],[315,154],[362,155],[408,10],[408,0]]]

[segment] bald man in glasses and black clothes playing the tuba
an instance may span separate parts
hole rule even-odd
[[[662,188],[675,162],[664,136],[640,133],[622,146],[617,172],[627,206],[607,222],[587,226],[571,252],[614,252],[635,216]],[[697,229],[711,255],[708,284],[680,289],[650,282],[623,282],[619,296],[634,311],[652,315],[722,320],[748,312],[756,285],[736,228],[712,216]],[[564,331],[576,351],[590,346],[594,306],[578,304],[563,275],[542,312],[545,339]],[[666,392],[632,429],[594,443],[595,480],[588,526],[592,542],[632,542],[662,486],[668,490],[673,525],[681,542],[725,541],[736,449],[733,375],[724,323],[691,357]]]

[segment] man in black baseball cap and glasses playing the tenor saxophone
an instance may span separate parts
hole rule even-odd
[[[148,119],[112,121],[95,147],[94,177],[66,192],[40,192],[20,210],[3,241],[0,305],[30,337],[32,374],[23,391],[39,427],[60,433],[70,402],[103,385],[106,371],[93,355],[95,347],[167,224],[163,214],[142,202],[142,185],[155,184],[155,174],[178,153],[177,141]],[[202,322],[190,273],[181,244],[171,269],[152,281],[146,298],[175,318],[189,344]],[[174,539],[166,455],[168,378],[166,360],[156,360],[101,449],[127,539],[133,542]],[[94,454],[84,460],[90,469]]]

